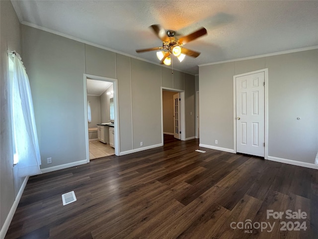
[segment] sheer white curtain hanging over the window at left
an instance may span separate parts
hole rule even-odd
[[[40,174],[41,157],[36,133],[34,110],[29,79],[21,57],[16,53],[13,59],[12,129],[18,176]]]

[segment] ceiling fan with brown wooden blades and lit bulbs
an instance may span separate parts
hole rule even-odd
[[[142,53],[146,51],[158,51],[157,57],[160,60],[160,64],[170,65],[171,58],[170,54],[173,54],[178,58],[181,62],[185,55],[191,57],[198,57],[200,52],[193,51],[187,48],[184,48],[183,45],[193,41],[205,34],[207,34],[207,30],[202,27],[199,30],[196,30],[186,36],[181,36],[176,38],[175,31],[167,30],[165,31],[159,24],[151,25],[150,28],[154,31],[156,36],[162,41],[162,46],[153,47],[153,48],[146,48],[146,49],[138,49],[136,50],[137,53]]]

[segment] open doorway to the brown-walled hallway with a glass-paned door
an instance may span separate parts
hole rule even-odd
[[[184,92],[161,87],[162,143],[185,140]]]

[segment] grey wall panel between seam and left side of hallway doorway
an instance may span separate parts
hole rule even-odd
[[[161,143],[160,68],[131,59],[133,149]]]

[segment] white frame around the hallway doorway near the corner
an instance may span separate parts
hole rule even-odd
[[[181,130],[181,135],[180,135],[180,140],[185,141],[185,102],[184,102],[184,91],[183,90],[177,90],[173,88],[167,88],[167,87],[162,87],[160,88],[160,95],[161,95],[161,142],[163,145],[163,104],[162,104],[162,92],[163,91],[172,91],[176,93],[180,93],[180,130]]]

